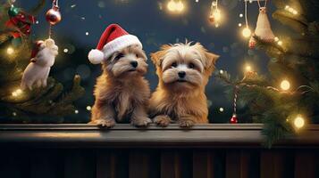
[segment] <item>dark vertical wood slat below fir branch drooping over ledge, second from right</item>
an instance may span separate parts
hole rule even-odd
[[[284,177],[284,156],[283,151],[263,150],[260,154],[260,177],[281,178]]]

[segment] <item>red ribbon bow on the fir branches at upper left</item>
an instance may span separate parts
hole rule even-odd
[[[31,25],[36,23],[36,18],[32,15],[20,12],[10,20],[5,22],[7,28],[19,28],[20,32],[12,32],[14,38],[21,37],[21,33],[29,36],[31,33]]]

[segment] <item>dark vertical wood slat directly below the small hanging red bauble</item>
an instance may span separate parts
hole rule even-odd
[[[226,152],[226,178],[248,178],[249,154],[246,151]]]

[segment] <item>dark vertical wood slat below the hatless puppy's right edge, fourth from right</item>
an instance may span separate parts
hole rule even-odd
[[[213,151],[193,151],[193,177],[214,178]]]

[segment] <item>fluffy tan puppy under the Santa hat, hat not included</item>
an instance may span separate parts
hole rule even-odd
[[[136,126],[151,123],[146,110],[150,90],[143,77],[147,73],[146,61],[144,51],[131,45],[102,63],[103,74],[97,78],[91,123],[112,127],[115,121],[124,122],[127,118]]]

